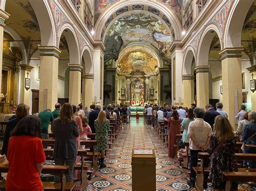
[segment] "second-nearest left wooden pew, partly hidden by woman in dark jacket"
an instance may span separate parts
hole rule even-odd
[[[52,156],[53,155],[53,148],[44,148],[44,153],[46,156]],[[86,188],[88,185],[88,180],[87,180],[87,171],[88,168],[91,166],[91,164],[85,164],[85,157],[87,155],[87,150],[85,149],[78,149],[77,155],[81,157],[81,164],[80,165],[75,165],[74,169],[80,171],[80,178],[81,178],[81,183],[80,187],[81,188]]]

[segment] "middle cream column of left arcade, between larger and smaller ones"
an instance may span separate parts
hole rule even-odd
[[[69,65],[69,103],[78,105],[81,103],[81,65]]]

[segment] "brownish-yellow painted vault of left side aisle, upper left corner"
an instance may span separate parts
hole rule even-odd
[[[28,0],[8,0],[5,10],[10,14],[5,24],[22,38],[28,59],[41,44],[40,29],[33,8]]]

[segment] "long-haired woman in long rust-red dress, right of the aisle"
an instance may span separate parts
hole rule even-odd
[[[168,147],[169,147],[169,157],[174,157],[175,150],[175,135],[180,134],[180,118],[177,110],[172,111],[172,117],[168,120],[168,129],[169,129],[169,138],[168,138]]]

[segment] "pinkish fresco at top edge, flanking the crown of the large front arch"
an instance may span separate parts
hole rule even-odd
[[[99,18],[100,14],[104,11],[104,9],[113,2],[117,0],[95,0],[95,23]],[[182,4],[182,0],[159,0],[159,2],[163,2],[166,5],[170,6],[174,11],[180,13],[180,8]]]

